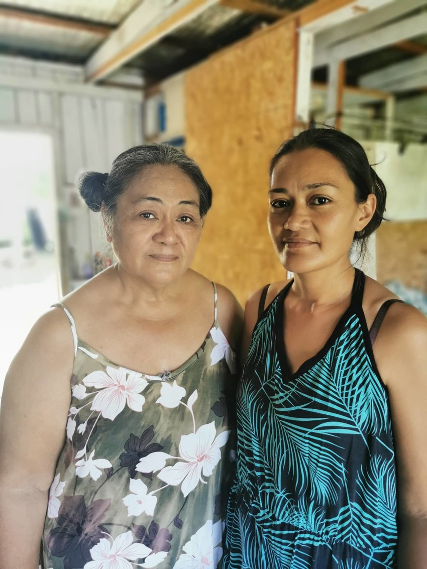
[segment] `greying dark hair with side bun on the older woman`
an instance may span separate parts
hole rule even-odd
[[[187,174],[199,191],[200,217],[204,217],[212,205],[212,189],[198,164],[170,145],[134,146],[117,156],[109,174],[85,172],[77,182],[80,195],[92,211],[98,212],[104,205],[104,221],[107,228],[111,228],[118,196],[125,191],[138,172],[147,166],[156,165],[176,166]]]

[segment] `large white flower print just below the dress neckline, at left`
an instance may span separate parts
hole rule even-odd
[[[128,378],[126,379],[126,375]],[[92,402],[92,411],[101,411],[102,417],[114,420],[127,404],[133,411],[142,411],[145,397],[140,395],[148,382],[140,373],[127,373],[127,370],[106,367],[89,373],[83,380],[87,387],[101,389]]]

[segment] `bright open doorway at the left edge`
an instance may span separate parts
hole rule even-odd
[[[0,397],[10,362],[59,296],[54,150],[49,134],[0,130]]]

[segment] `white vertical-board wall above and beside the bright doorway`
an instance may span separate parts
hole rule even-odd
[[[34,85],[33,87],[31,85]],[[77,175],[108,172],[120,152],[142,142],[142,93],[82,83],[79,67],[0,58],[0,129],[52,134],[61,228],[61,270],[67,292],[69,245],[78,263],[102,247],[99,216],[76,205]]]

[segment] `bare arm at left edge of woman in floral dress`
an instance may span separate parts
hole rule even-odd
[[[37,569],[48,491],[64,443],[73,340],[58,308],[31,329],[0,411],[0,569]]]

